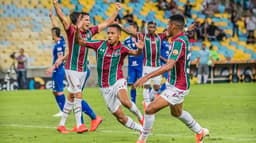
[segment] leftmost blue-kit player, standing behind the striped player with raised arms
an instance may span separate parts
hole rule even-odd
[[[56,60],[58,58],[61,58],[64,53],[65,53],[65,40],[64,37],[61,36],[61,31],[60,28],[57,27],[53,16],[52,16],[52,11],[50,11],[49,17],[52,22],[53,28],[51,29],[52,31],[52,40],[54,41],[54,47],[53,47],[53,64],[55,64]],[[48,69],[48,73],[49,70]],[[53,95],[55,96],[56,102],[59,106],[60,112],[55,114],[55,117],[62,116],[63,112],[63,107],[65,104],[65,95],[64,95],[64,77],[65,77],[65,70],[64,70],[64,64],[62,63],[58,68],[54,68],[53,74],[52,74],[52,92]]]

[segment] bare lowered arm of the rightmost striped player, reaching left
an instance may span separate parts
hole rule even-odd
[[[161,68],[159,68],[158,70],[151,72],[151,73],[147,74],[146,76],[143,76],[142,78],[137,80],[136,83],[134,84],[134,86],[135,87],[137,87],[137,86],[143,87],[144,83],[147,82],[150,78],[156,77],[158,75],[162,75],[163,73],[171,70],[175,64],[176,64],[175,60],[169,59],[167,61],[167,63],[165,65],[163,65]]]

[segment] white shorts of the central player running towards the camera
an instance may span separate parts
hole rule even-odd
[[[100,88],[108,110],[111,113],[115,113],[119,106],[121,106],[121,102],[118,98],[118,91],[120,89],[127,90],[127,82],[125,79],[119,79],[114,85],[110,87]]]

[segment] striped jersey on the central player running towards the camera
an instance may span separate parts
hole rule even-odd
[[[115,84],[124,78],[122,66],[130,49],[121,43],[112,47],[107,40],[89,40],[86,46],[96,51],[98,83],[102,88]]]

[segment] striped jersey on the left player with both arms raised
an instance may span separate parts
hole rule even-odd
[[[84,40],[91,40],[98,31],[98,26],[94,26],[86,32],[80,31],[80,36]],[[66,33],[68,36],[69,56],[65,69],[85,72],[87,69],[88,48],[75,43],[76,27],[74,25],[71,25]]]

